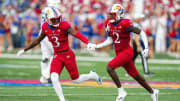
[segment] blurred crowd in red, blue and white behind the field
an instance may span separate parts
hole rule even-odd
[[[168,53],[180,57],[180,1],[179,0],[61,0],[64,20],[93,43],[103,42],[107,35],[104,23],[106,11],[114,3],[125,9],[125,18],[141,18],[150,46],[154,53]],[[38,36],[41,10],[46,0],[0,0],[0,49],[11,51],[23,48]],[[72,36],[73,49],[85,49],[85,45]],[[104,53],[113,47],[100,51]],[[36,47],[39,50],[39,47]]]

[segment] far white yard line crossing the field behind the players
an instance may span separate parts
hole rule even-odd
[[[16,54],[1,54],[0,58],[41,59],[41,55],[22,55],[20,57],[17,57]],[[76,59],[79,61],[109,62],[113,59],[113,57],[76,56]],[[141,60],[137,59],[136,62],[140,63]],[[158,64],[180,64],[180,60],[176,59],[149,59],[148,62]]]

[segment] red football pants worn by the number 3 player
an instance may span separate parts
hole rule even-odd
[[[64,66],[72,80],[79,78],[76,58],[72,50],[63,53],[54,53],[50,73],[56,72],[60,75]]]

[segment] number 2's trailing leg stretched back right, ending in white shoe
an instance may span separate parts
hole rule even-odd
[[[123,65],[128,74],[133,77],[142,87],[144,87],[150,94],[153,96],[153,101],[158,101],[158,93],[157,89],[152,89],[150,85],[146,82],[146,80],[138,73],[133,61]],[[154,97],[155,96],[155,97]]]

